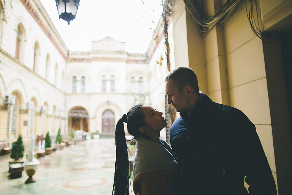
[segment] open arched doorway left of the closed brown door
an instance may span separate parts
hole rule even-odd
[[[75,106],[69,110],[68,113],[68,131],[70,130],[81,130],[89,132],[88,128],[88,112],[82,106]]]

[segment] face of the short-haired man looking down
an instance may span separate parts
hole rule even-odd
[[[173,85],[173,80],[169,79],[165,83],[165,93],[167,95],[167,103],[172,104],[177,112],[187,110],[188,96],[186,90],[179,92],[178,88]]]

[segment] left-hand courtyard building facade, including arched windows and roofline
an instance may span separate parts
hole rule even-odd
[[[39,1],[0,1],[0,144],[64,133],[68,49]],[[63,128],[62,128],[63,127]]]

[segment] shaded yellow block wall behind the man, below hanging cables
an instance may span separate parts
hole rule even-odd
[[[214,1],[203,2],[205,15],[213,16]],[[265,28],[289,26],[291,0],[257,2]],[[214,27],[203,37],[183,0],[173,3],[174,42],[185,43],[187,39],[185,47],[174,45],[175,66],[186,66],[182,65],[186,56],[181,54],[187,49],[188,65],[197,73],[200,90],[215,102],[240,109],[256,125],[279,194],[284,194],[292,181],[292,144],[279,42],[265,43],[252,32],[245,3],[223,27]],[[251,7],[249,2],[247,7]],[[279,12],[283,13],[268,19]],[[281,25],[283,18],[285,25]]]

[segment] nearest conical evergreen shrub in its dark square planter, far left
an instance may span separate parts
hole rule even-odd
[[[14,161],[9,162],[9,171],[11,178],[18,178],[22,176],[23,165],[20,159],[23,157],[24,145],[22,143],[22,136],[19,134],[17,141],[13,144],[10,158]]]

